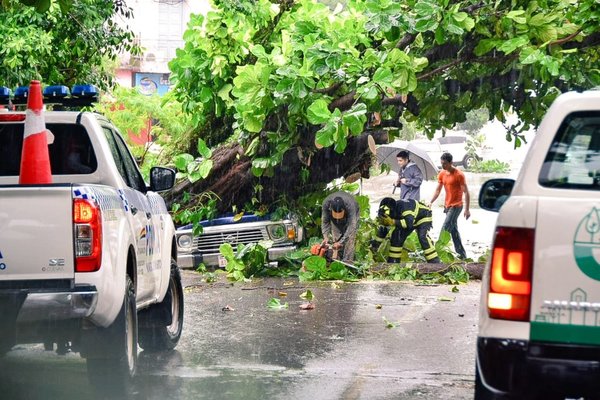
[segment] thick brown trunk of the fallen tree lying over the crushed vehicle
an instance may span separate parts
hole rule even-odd
[[[194,183],[186,179],[178,183],[165,194],[165,200],[170,208],[173,203],[181,203],[186,192],[213,192],[220,199],[217,205],[219,212],[225,212],[233,206],[242,210],[253,197],[262,204],[272,204],[281,195],[297,198],[324,187],[336,178],[358,177],[358,174],[368,178],[369,168],[375,159],[369,150],[369,135],[376,144],[388,142],[387,132],[381,130],[351,138],[343,154],[336,153],[331,147],[320,150],[308,145],[296,147],[284,154],[283,161],[269,177],[252,174],[252,162],[239,144],[222,146],[213,151],[213,168],[206,179]],[[309,171],[305,181],[300,175],[302,168]],[[255,192],[256,185],[262,186],[260,192]]]

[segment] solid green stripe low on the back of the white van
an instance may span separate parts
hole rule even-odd
[[[600,345],[600,326],[531,322],[531,340]]]

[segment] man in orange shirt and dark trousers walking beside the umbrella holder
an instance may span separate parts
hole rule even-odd
[[[444,225],[442,225],[442,231],[446,230],[452,236],[452,242],[454,243],[454,250],[458,253],[458,257],[461,260],[467,258],[467,253],[460,240],[460,233],[458,232],[458,216],[460,215],[463,204],[465,208],[465,219],[469,219],[471,212],[469,211],[469,202],[471,197],[469,196],[469,189],[467,188],[467,181],[465,174],[462,171],[452,165],[452,154],[444,153],[440,157],[442,161],[442,171],[438,175],[438,186],[433,193],[431,203],[438,198],[444,187],[446,193],[446,200],[444,202],[444,212],[446,213],[446,219]],[[465,194],[465,202],[462,201],[462,195]]]

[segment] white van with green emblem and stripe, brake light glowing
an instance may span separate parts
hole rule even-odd
[[[600,394],[600,91],[560,95],[498,211],[481,286],[475,399]]]

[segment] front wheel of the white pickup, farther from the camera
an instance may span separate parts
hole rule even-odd
[[[183,287],[177,263],[171,260],[169,288],[163,301],[145,310],[140,323],[140,347],[147,351],[172,350],[183,330]]]

